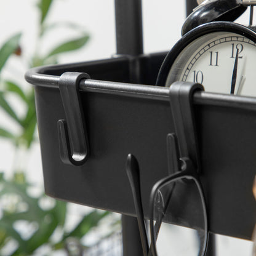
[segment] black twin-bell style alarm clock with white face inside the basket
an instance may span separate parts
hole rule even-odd
[[[156,85],[189,81],[202,84],[207,92],[256,96],[256,32],[253,26],[232,21],[249,2],[202,2],[164,59]]]

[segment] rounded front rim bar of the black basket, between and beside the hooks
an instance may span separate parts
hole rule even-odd
[[[34,68],[27,71],[25,74],[26,81],[30,82],[34,86],[58,89],[59,76],[40,74],[38,71],[39,68]],[[99,92],[126,97],[169,101],[168,87],[83,79],[79,83],[79,90],[82,92]],[[193,103],[197,105],[225,106],[227,108],[240,108],[253,111],[256,110],[256,98],[230,94],[196,92],[194,94]]]

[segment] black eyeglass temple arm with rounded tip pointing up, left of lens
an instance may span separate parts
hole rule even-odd
[[[142,249],[144,256],[148,256],[148,238],[146,236],[146,226],[144,222],[144,213],[142,207],[142,195],[140,193],[140,170],[138,161],[132,154],[128,154],[126,161],[126,172],[132,188],[132,196],[134,198],[134,206],[138,220],[138,230],[140,231],[140,239],[142,240]]]

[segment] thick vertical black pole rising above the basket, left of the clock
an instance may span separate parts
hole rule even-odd
[[[115,0],[116,53],[143,54],[142,1]]]

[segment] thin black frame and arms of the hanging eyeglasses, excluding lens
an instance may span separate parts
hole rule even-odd
[[[199,191],[200,199],[202,202],[202,209],[204,212],[204,244],[202,246],[202,254],[201,256],[206,255],[207,251],[207,243],[208,243],[208,221],[207,221],[207,208],[206,208],[206,201],[204,198],[204,193],[202,190],[202,185],[199,180],[199,175],[196,170],[196,167],[194,167],[193,162],[190,160],[190,158],[178,158],[178,145],[177,145],[177,138],[175,134],[168,134],[167,135],[167,151],[169,151],[168,154],[168,169],[170,173],[170,169],[174,171],[174,174],[169,175],[165,178],[162,178],[158,182],[156,182],[151,190],[150,194],[150,237],[151,237],[151,244],[150,247],[148,246],[148,239],[146,236],[146,227],[145,227],[145,215],[143,214],[143,207],[142,207],[142,196],[140,191],[140,176],[139,176],[139,167],[138,162],[135,156],[132,154],[129,154],[127,156],[127,162],[126,162],[126,171],[127,175],[129,177],[130,186],[132,188],[132,194],[134,197],[134,204],[135,204],[135,211],[137,214],[137,220],[138,220],[138,227],[140,231],[140,237],[142,241],[142,248],[143,248],[143,254],[144,256],[158,256],[156,252],[156,239],[154,238],[154,197],[158,191],[158,189],[161,186],[164,186],[166,183],[175,182],[176,180],[182,180],[182,179],[188,179],[188,180],[194,180],[196,183],[196,186]],[[181,161],[180,161],[181,160]],[[180,164],[182,162],[182,166]],[[164,214],[162,215],[162,217]],[[162,218],[161,218],[162,223]],[[157,232],[159,232],[159,228],[161,226],[161,223],[156,222],[157,226]]]

